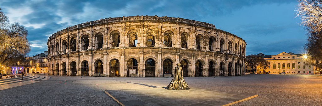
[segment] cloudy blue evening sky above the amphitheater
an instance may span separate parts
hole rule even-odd
[[[48,37],[68,26],[109,17],[149,15],[211,23],[247,42],[246,55],[304,53],[306,30],[297,0],[0,0],[10,22],[29,31],[30,56],[47,51]]]

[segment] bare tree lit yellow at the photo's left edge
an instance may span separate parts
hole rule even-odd
[[[0,11],[0,65],[30,52],[27,29],[17,22],[10,25],[8,23],[8,17]]]

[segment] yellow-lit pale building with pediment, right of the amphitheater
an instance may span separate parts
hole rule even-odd
[[[314,71],[316,70],[314,65],[308,64],[304,58],[304,54],[282,52],[277,55],[265,55],[260,53],[258,56],[263,57],[268,62],[269,66],[265,71],[260,67],[257,67],[255,73],[268,72],[269,74],[279,74],[285,72],[286,74],[314,74]],[[247,63],[245,68],[246,73],[252,73],[251,67],[247,66]]]

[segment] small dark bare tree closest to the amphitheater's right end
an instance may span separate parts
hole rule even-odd
[[[258,55],[248,55],[246,56],[246,62],[252,68],[252,72],[256,72],[256,68],[265,61],[264,58]]]

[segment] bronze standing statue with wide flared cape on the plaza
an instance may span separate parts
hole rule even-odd
[[[173,79],[166,87],[168,90],[189,90],[188,84],[183,79],[182,67],[180,67],[180,63],[175,67],[175,73],[173,74]]]

